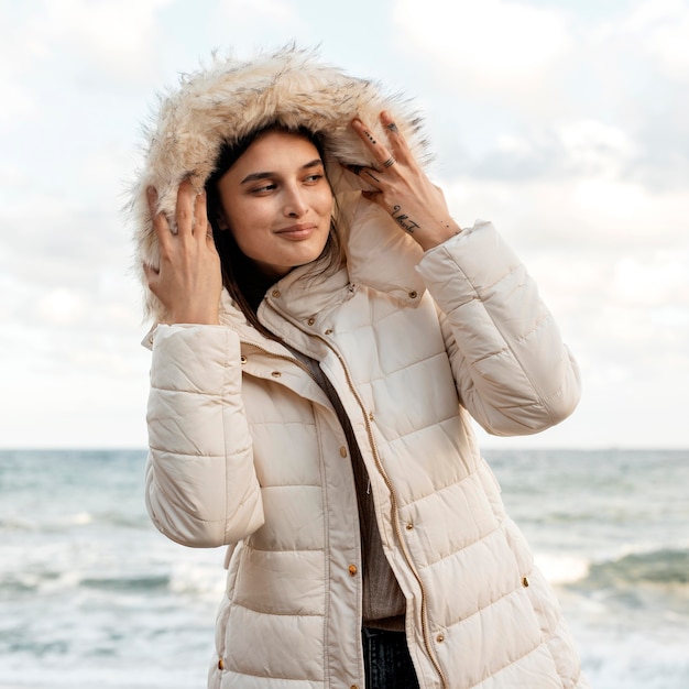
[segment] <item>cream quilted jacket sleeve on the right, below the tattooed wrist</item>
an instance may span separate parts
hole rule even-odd
[[[441,311],[460,400],[488,433],[538,433],[571,414],[581,393],[577,363],[490,222],[427,251],[417,270]]]

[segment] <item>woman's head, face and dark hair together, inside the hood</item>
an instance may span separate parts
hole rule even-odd
[[[322,144],[304,128],[260,130],[222,146],[206,190],[223,285],[270,337],[255,316],[269,286],[319,258],[341,262]]]

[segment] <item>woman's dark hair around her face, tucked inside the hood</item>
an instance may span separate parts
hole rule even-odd
[[[216,248],[218,249],[218,254],[220,255],[222,284],[242,310],[247,320],[256,328],[256,330],[265,337],[278,339],[259,321],[256,316],[261,300],[275,280],[263,274],[256,267],[256,264],[243,253],[237,244],[231,231],[220,228],[222,204],[218,190],[218,182],[225,173],[234,165],[240,156],[245,153],[247,149],[249,149],[261,134],[269,131],[283,131],[304,136],[314,144],[320,158],[325,163],[324,144],[319,134],[304,127],[289,129],[283,124],[273,122],[242,136],[234,143],[226,142],[222,144],[216,158],[214,171],[206,181],[206,194],[208,199],[208,221],[212,228],[212,237],[216,242]],[[340,242],[335,219],[331,218],[328,240],[320,256],[314,262],[314,271],[309,272],[308,277],[333,272],[341,263],[342,254],[340,251]]]

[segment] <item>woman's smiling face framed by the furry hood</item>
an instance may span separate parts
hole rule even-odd
[[[220,227],[269,277],[317,259],[330,231],[332,192],[320,154],[305,136],[256,138],[218,182]]]

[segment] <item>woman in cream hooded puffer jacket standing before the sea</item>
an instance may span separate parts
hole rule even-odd
[[[209,687],[586,687],[471,415],[537,433],[576,364],[398,98],[287,48],[162,101],[134,193],[146,503],[228,546]]]

